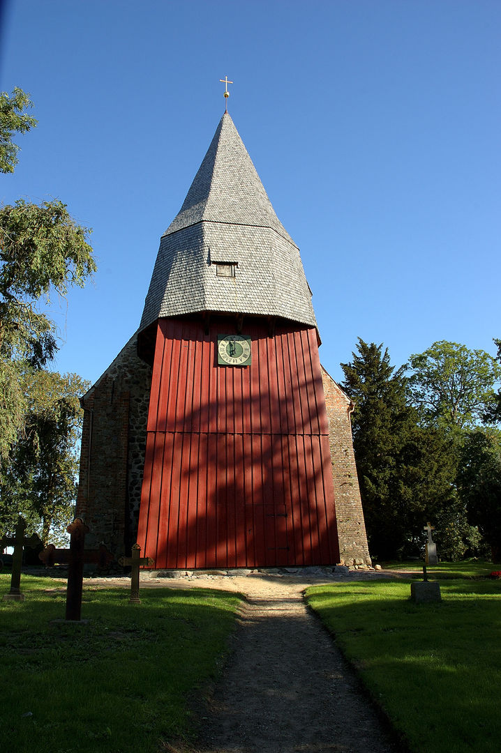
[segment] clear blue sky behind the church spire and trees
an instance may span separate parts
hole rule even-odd
[[[400,365],[501,337],[499,0],[11,0],[0,89],[31,93],[0,203],[59,197],[99,269],[53,315],[96,380],[136,330],[161,233],[229,111],[301,248],[341,380],[356,338]]]

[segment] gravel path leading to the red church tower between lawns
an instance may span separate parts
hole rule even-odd
[[[142,588],[212,587],[247,597],[223,675],[207,705],[197,709],[197,753],[399,753],[302,596],[313,584],[388,575],[145,578]],[[123,578],[106,582],[115,580],[124,584]]]

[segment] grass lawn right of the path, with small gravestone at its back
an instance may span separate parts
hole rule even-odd
[[[444,578],[442,602],[423,605],[410,584],[353,581],[307,599],[411,751],[499,753],[501,581]]]

